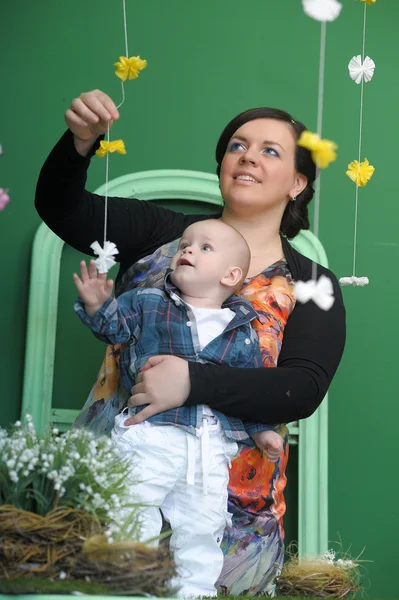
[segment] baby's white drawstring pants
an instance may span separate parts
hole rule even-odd
[[[163,514],[172,529],[178,580],[171,583],[180,588],[178,595],[216,596],[223,567],[220,544],[231,523],[229,463],[238,446],[213,417],[204,417],[197,435],[148,422],[126,427],[127,418],[126,412],[116,417],[112,439],[121,456],[132,461],[132,501],[149,505],[141,515],[141,540],[159,536]]]

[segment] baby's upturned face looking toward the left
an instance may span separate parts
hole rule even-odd
[[[170,264],[172,281],[184,294],[204,296],[220,285],[230,265],[228,233],[216,219],[185,230]]]

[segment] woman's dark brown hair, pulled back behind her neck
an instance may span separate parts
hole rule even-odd
[[[251,108],[250,110],[246,110],[230,121],[219,138],[216,146],[216,162],[218,164],[216,172],[218,177],[220,177],[220,167],[230,139],[244,123],[248,123],[248,121],[253,121],[254,119],[277,119],[278,121],[284,121],[292,128],[296,140],[307,129],[303,123],[294,120],[290,114],[277,108]],[[316,179],[316,165],[312,160],[309,150],[298,145],[295,150],[295,168],[298,173],[302,173],[302,175],[307,177],[308,183],[294,202],[288,202],[287,208],[284,211],[280,232],[287,238],[293,238],[301,229],[309,229],[310,227],[308,204],[313,198],[313,184]]]

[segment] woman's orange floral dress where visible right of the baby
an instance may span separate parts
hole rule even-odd
[[[295,306],[291,275],[285,261],[249,280],[241,295],[250,300],[260,316],[257,330],[263,366],[277,366],[284,329]],[[218,588],[223,594],[274,594],[274,580],[284,561],[283,515],[287,483],[288,429],[280,427],[284,448],[279,460],[270,463],[257,448],[242,448],[232,462],[229,481],[229,512],[222,548],[223,571]]]

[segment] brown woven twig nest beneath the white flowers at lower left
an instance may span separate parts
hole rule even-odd
[[[59,507],[42,517],[0,506],[0,578],[45,577],[105,584],[113,593],[170,594],[176,571],[165,545],[110,544],[103,532],[82,510]]]

